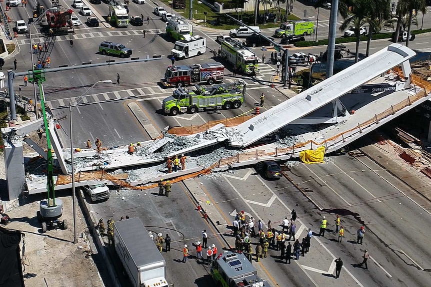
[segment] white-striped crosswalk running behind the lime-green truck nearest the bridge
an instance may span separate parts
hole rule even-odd
[[[262,64],[269,66],[267,64]],[[267,68],[266,68],[267,70]],[[237,81],[238,78],[225,78],[223,80],[224,83],[233,83]],[[267,86],[260,85],[259,83],[253,81],[252,79],[242,79],[245,81],[247,87],[252,87],[253,89],[258,88],[266,88]],[[148,100],[158,100],[161,101],[172,94],[175,88],[162,88],[158,85],[134,88],[134,89],[126,89],[105,93],[97,93],[90,94],[82,97],[81,101],[78,105],[87,105],[87,104],[96,104],[110,101],[119,101],[119,100],[138,100],[138,101],[148,101]],[[71,97],[65,99],[55,99],[46,101],[46,103],[51,107],[51,109],[62,109],[69,106],[69,103],[74,103],[78,97]]]

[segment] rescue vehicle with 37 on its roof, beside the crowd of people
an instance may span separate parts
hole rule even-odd
[[[222,287],[270,287],[257,276],[257,270],[242,253],[226,251],[214,260],[212,279]]]

